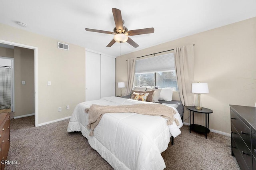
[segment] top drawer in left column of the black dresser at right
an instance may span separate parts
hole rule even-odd
[[[231,123],[236,127],[239,135],[251,149],[251,129],[231,110]]]

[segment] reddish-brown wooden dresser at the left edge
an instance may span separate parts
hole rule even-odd
[[[0,158],[7,159],[10,147],[10,114],[0,114]],[[0,170],[4,170],[4,164],[0,163]]]

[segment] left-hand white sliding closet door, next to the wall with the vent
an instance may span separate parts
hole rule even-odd
[[[100,99],[100,54],[85,52],[85,100]]]

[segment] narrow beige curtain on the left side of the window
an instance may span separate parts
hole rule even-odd
[[[135,58],[130,58],[127,60],[128,66],[127,66],[127,85],[125,89],[124,95],[130,95],[132,88],[133,88],[133,82],[134,82],[134,74],[135,74]]]

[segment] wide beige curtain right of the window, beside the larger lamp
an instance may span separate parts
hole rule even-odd
[[[174,58],[180,100],[184,106],[193,106],[191,86],[194,81],[194,45],[176,47]]]

